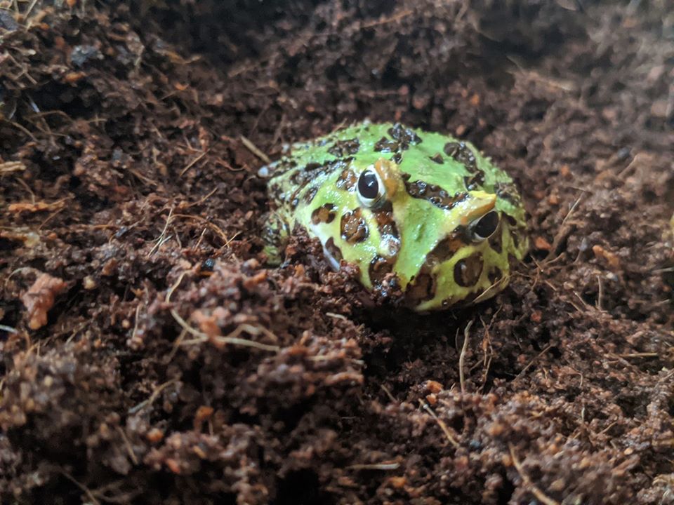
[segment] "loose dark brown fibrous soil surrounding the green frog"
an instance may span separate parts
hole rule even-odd
[[[0,502],[674,503],[668,1],[0,6]],[[515,177],[503,294],[265,267],[264,156],[365,118]]]

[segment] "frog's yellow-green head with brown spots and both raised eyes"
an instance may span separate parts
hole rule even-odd
[[[364,285],[399,288],[418,311],[479,302],[505,287],[527,244],[523,215],[493,185],[468,190],[456,171],[439,179],[437,169],[408,172],[383,158],[353,168],[353,201],[335,220],[339,238],[326,255],[358,264]]]

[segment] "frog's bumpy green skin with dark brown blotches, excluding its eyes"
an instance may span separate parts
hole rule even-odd
[[[375,172],[381,187],[371,206],[359,190],[364,170]],[[513,180],[454,137],[362,123],[295,144],[262,172],[270,175],[270,262],[280,260],[288,231],[303,227],[333,267],[357,264],[366,288],[402,293],[417,311],[496,295],[527,252]],[[487,213],[491,227],[496,217],[498,224],[480,239],[476,223]]]

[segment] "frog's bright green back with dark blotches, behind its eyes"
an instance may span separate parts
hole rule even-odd
[[[382,157],[397,163],[410,180],[498,191],[505,199],[512,199],[513,205],[506,205],[510,212],[518,213],[521,206],[510,175],[481,156],[469,142],[405,128],[399,123],[368,121],[293,144],[288,155],[269,167],[270,193],[277,206],[289,206],[292,211],[301,203],[299,199],[295,201],[296,197],[312,193],[311,186],[315,184],[310,182],[324,182],[326,175],[343,170],[355,158],[359,166],[369,166]]]

